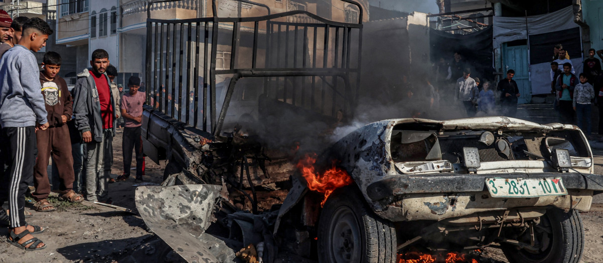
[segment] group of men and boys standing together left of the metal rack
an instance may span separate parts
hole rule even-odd
[[[124,172],[116,180],[130,176],[133,149],[135,181],[144,175],[140,79],[130,77],[124,94],[114,82],[118,72],[109,54],[97,49],[70,91],[58,74],[60,54],[46,52],[40,65],[33,54],[52,33],[42,19],[13,20],[0,10],[0,225],[10,228],[8,242],[25,250],[46,247],[31,235],[46,229],[25,220],[32,216],[24,209],[30,186],[33,208],[40,212],[56,210],[48,199],[51,187],[68,202],[112,202],[108,184],[115,181],[110,171],[116,128],[124,127]],[[50,158],[58,177],[53,186]]]

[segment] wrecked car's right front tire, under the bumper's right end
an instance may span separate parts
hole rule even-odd
[[[578,263],[580,261],[584,250],[584,228],[578,211],[570,210],[569,213],[565,213],[558,208],[549,209],[540,217],[540,225],[551,231],[548,233],[535,229],[535,237],[545,247],[540,251],[531,251],[518,250],[516,246],[502,246],[510,263]]]

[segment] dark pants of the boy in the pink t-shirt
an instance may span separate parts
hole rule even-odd
[[[145,157],[142,153],[142,137],[140,137],[140,126],[124,127],[124,135],[121,141],[124,153],[124,175],[130,176],[132,165],[132,148],[136,152],[136,178],[142,179],[145,175]]]

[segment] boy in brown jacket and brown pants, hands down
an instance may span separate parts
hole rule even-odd
[[[48,159],[52,153],[52,162],[57,165],[60,178],[59,190],[62,199],[71,202],[84,201],[83,196],[72,190],[74,183],[74,160],[71,155],[71,139],[67,121],[71,120],[73,98],[65,80],[58,76],[61,69],[61,56],[57,52],[46,52],[43,59],[44,70],[40,72],[42,94],[48,112],[50,127],[37,131],[38,156],[34,166],[34,186],[32,195],[36,200],[36,211],[48,212],[56,210],[46,198],[50,193],[48,180]]]

